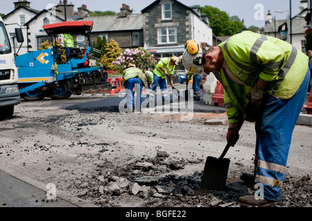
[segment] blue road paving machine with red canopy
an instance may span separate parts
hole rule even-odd
[[[94,66],[92,52],[96,51],[90,39],[93,21],[63,21],[46,24],[43,29],[50,37],[45,50],[18,55],[19,93],[25,101],[38,101],[46,97],[68,99],[71,95],[109,91],[114,88],[108,81],[107,71],[101,63]],[[87,46],[75,42],[65,56],[60,36],[70,34],[87,37]],[[98,51],[96,51],[98,52]]]

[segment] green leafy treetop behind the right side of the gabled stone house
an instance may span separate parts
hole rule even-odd
[[[231,36],[240,32],[245,26],[237,16],[229,17],[226,12],[212,6],[201,7],[202,14],[209,17],[210,26],[216,36]]]

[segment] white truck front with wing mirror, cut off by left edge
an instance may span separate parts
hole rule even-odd
[[[13,44],[23,42],[20,28],[15,28]],[[0,17],[0,118],[12,117],[15,105],[21,103],[19,87],[17,86],[18,73],[15,66],[15,46],[12,47],[6,25]]]

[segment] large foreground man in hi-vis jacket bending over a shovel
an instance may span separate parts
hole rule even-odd
[[[255,171],[241,179],[257,183],[261,194],[242,196],[239,204],[275,204],[281,200],[291,137],[309,86],[308,57],[286,41],[250,31],[218,46],[190,40],[185,47],[184,67],[213,73],[225,89],[227,142],[234,146],[239,140],[234,128],[244,111],[246,120],[255,122]]]

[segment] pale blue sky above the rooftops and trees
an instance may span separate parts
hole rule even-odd
[[[18,0],[0,0],[0,13],[8,14],[14,10],[14,2]],[[46,6],[60,3],[60,0],[28,0],[31,2],[31,8],[43,10]],[[123,3],[130,6],[133,13],[140,14],[141,10],[149,6],[155,0],[68,0],[68,3],[74,5],[76,11],[83,4],[90,11],[113,11],[119,12]],[[300,12],[301,0],[180,0],[185,6],[213,6],[224,12],[230,17],[236,15],[243,19],[245,26],[264,27],[266,15],[270,10],[273,17],[286,19],[290,14],[292,17]],[[291,6],[291,7],[290,7]],[[291,9],[291,10],[290,10]],[[279,11],[279,12],[276,12]],[[282,11],[282,12],[281,12]]]

